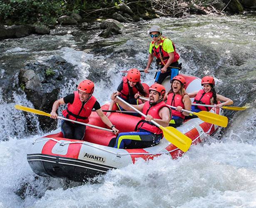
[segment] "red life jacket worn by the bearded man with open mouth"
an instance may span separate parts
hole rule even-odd
[[[158,104],[154,105],[154,106],[150,106],[149,101],[145,102],[143,109],[142,109],[142,113],[147,115],[151,115],[153,116],[154,119],[162,119],[159,116],[159,111],[163,108],[163,107],[167,107],[169,109],[169,107],[165,104],[165,102],[159,102]],[[171,115],[171,112],[170,112]],[[154,134],[163,134],[163,131],[161,129],[159,129],[157,126],[155,126],[154,124],[151,124],[147,121],[144,121],[145,118],[144,116],[142,116],[142,120],[138,122],[137,124],[137,128],[138,129],[144,129],[147,131],[150,131]]]

